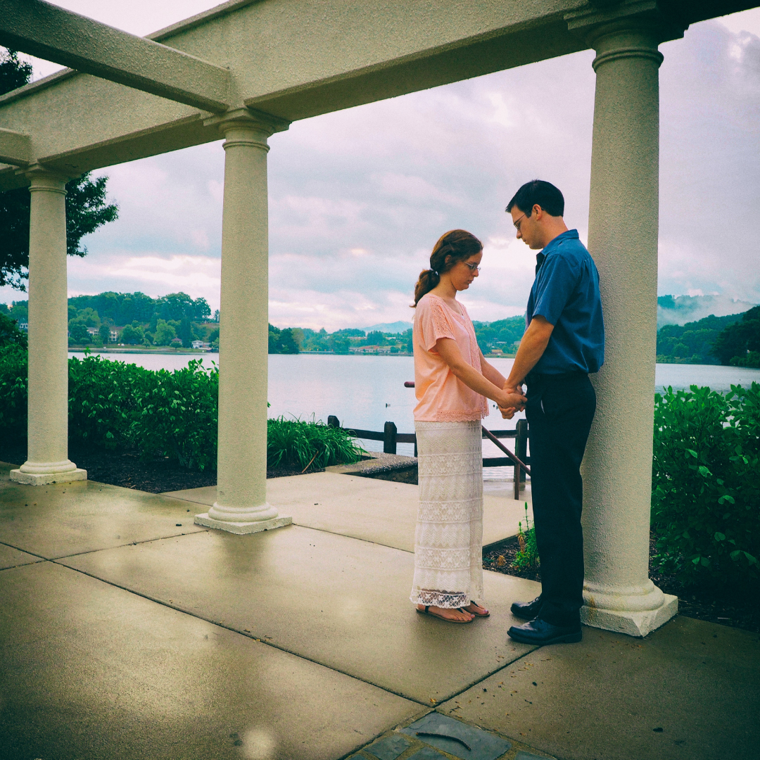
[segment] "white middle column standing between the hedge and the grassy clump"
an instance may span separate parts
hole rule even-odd
[[[267,138],[281,122],[239,109],[225,136],[217,501],[199,525],[256,533],[287,525],[267,503],[269,239]],[[287,126],[287,125],[286,125]]]

